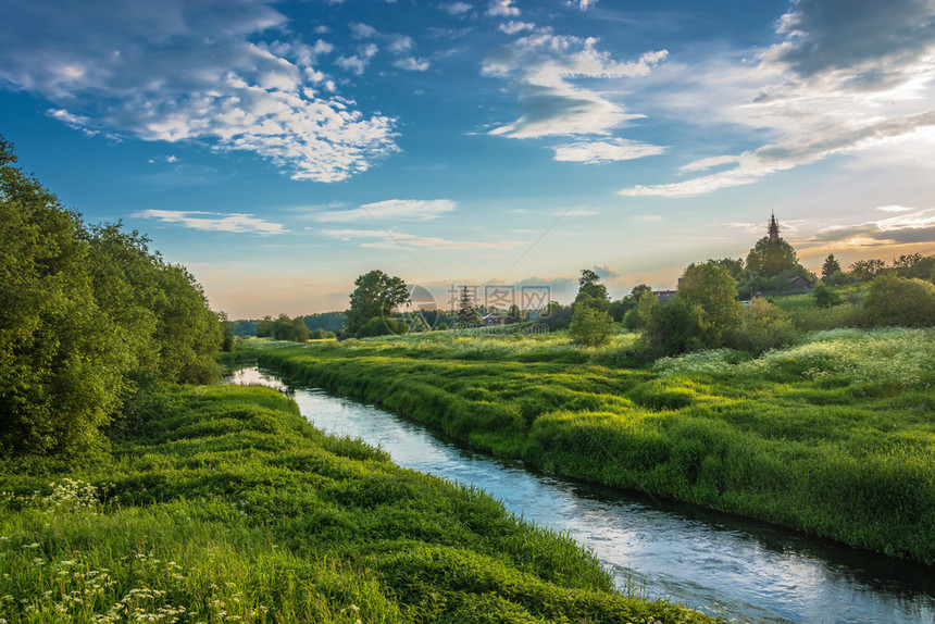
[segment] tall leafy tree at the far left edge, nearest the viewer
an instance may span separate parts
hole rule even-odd
[[[132,357],[95,300],[79,216],[15,163],[0,137],[0,444],[77,451],[119,405]]]

